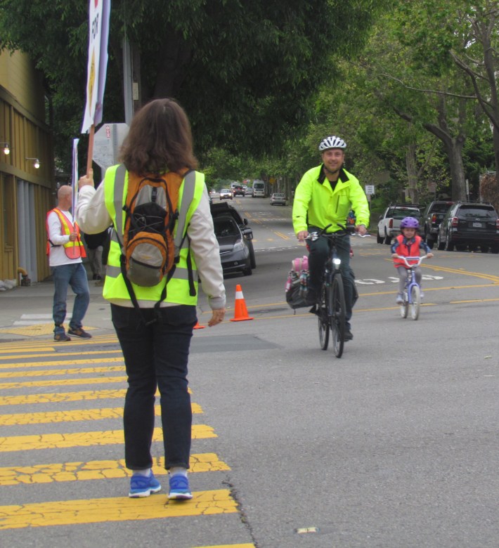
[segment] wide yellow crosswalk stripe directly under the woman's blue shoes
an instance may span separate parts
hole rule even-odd
[[[169,501],[160,494],[143,499],[61,500],[0,507],[0,529],[209,516],[237,511],[238,505],[228,489],[193,492],[192,500],[183,502]]]

